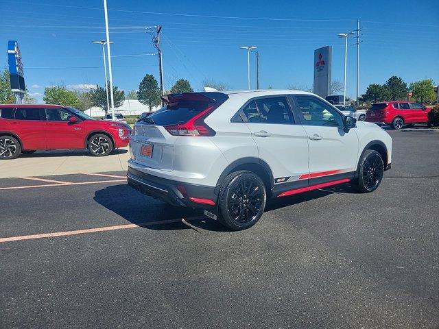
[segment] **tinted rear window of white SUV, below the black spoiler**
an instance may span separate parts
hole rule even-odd
[[[222,93],[185,93],[166,97],[169,103],[165,107],[142,118],[141,121],[154,125],[186,123],[209,106],[219,106],[228,98]]]

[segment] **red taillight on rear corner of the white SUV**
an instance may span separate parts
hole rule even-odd
[[[198,113],[186,123],[166,125],[165,129],[173,136],[215,136],[215,130],[204,123],[204,119],[215,110],[217,106],[209,106]]]

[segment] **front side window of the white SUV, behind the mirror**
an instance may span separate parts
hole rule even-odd
[[[305,125],[342,127],[342,116],[337,110],[315,97],[298,96],[299,114]]]

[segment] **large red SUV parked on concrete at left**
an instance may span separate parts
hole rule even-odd
[[[107,156],[128,145],[131,128],[119,121],[95,120],[58,105],[0,105],[0,159],[37,149],[86,149]]]

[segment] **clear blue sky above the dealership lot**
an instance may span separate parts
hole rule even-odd
[[[330,4],[329,4],[330,3]],[[102,0],[0,0],[0,45],[21,49],[29,93],[42,101],[47,86],[85,90],[105,83]],[[244,45],[258,47],[260,87],[311,88],[313,51],[333,47],[332,77],[343,81],[344,40],[360,21],[359,93],[368,84],[402,77],[407,84],[439,83],[439,4],[429,1],[134,1],[108,0],[113,83],[137,90],[143,76],[158,80],[151,27],[162,25],[165,89],[180,77],[200,90],[203,82],[247,88]],[[356,42],[348,39],[347,92],[356,93]],[[0,57],[1,58],[1,57]],[[255,88],[254,53],[251,56]]]

